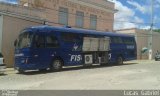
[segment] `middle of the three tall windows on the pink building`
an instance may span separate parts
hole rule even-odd
[[[83,28],[84,25],[84,12],[76,12],[76,27]]]

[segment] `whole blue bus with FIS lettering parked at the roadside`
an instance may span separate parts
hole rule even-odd
[[[59,71],[63,66],[123,64],[136,59],[134,36],[94,30],[34,26],[15,41],[15,69]]]

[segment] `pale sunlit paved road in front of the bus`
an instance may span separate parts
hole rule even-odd
[[[16,74],[11,69],[0,76],[0,89],[160,89],[160,62],[132,61],[121,66],[78,67],[61,72],[26,74]]]

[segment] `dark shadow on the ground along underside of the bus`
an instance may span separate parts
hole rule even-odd
[[[83,70],[83,69],[97,69],[97,68],[106,68],[106,67],[113,67],[113,66],[126,66],[126,65],[134,65],[134,64],[138,64],[138,63],[124,63],[122,65],[116,65],[116,64],[110,64],[110,65],[92,65],[92,66],[76,66],[76,67],[67,67],[67,68],[63,68],[61,71],[58,72],[53,72],[53,71],[27,71],[23,74],[20,75],[38,75],[38,74],[49,74],[49,73],[59,73],[59,72],[65,72],[65,71],[76,71],[76,70]]]

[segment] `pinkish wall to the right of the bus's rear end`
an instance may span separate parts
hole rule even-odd
[[[141,30],[136,29],[136,38],[137,38],[137,55],[138,59],[148,59],[148,52],[141,53],[142,48],[148,48],[148,40],[151,35],[149,34],[149,30]],[[160,41],[160,33],[153,32],[153,42],[152,42],[152,58],[154,59],[157,50],[160,51],[160,45],[158,42]]]

